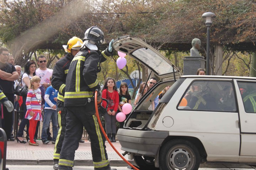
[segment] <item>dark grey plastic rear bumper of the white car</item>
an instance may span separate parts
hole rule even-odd
[[[169,132],[119,129],[117,132],[121,149],[130,153],[155,156]]]

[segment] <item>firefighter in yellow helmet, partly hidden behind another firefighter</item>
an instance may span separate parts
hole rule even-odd
[[[68,44],[63,45],[66,55],[55,64],[52,74],[52,86],[58,90],[57,113],[58,113],[58,128],[59,132],[56,138],[56,143],[53,153],[53,168],[58,170],[59,155],[62,148],[62,143],[66,131],[66,109],[64,107],[64,93],[66,86],[66,76],[69,66],[74,56],[80,51],[82,40],[74,36],[68,41]]]

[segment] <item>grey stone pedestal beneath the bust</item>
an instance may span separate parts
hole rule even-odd
[[[205,61],[202,56],[187,56],[183,59],[183,75],[196,75],[197,69],[205,69]]]

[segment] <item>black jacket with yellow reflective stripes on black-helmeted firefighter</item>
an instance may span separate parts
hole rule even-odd
[[[97,79],[99,60],[105,61],[111,53],[108,49],[100,53],[95,50],[79,51],[73,58],[66,79],[64,106],[84,106],[88,98],[100,89]]]

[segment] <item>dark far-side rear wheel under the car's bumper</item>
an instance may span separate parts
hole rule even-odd
[[[135,155],[134,162],[139,166],[140,170],[158,170],[155,168],[155,158]]]

